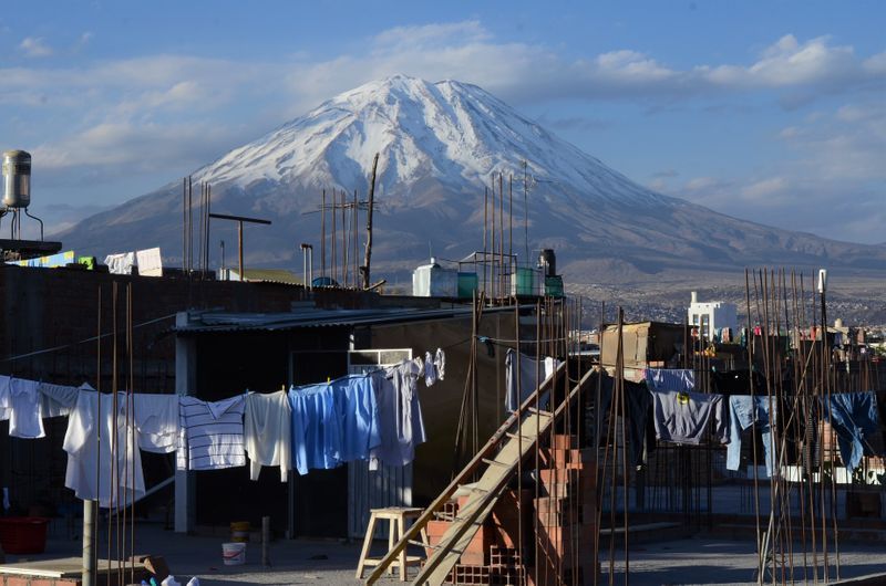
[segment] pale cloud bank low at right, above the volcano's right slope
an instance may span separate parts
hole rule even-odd
[[[779,133],[793,156],[744,177],[661,184],[723,213],[838,240],[878,243],[886,221],[886,105],[844,104]]]

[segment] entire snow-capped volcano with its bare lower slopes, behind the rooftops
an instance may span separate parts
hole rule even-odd
[[[529,248],[555,248],[573,281],[763,264],[882,271],[886,261],[879,247],[736,220],[656,193],[482,88],[455,81],[398,75],[368,83],[229,151],[193,179],[212,184],[213,211],[274,219],[270,228],[250,231],[248,265],[295,269],[297,243],[320,240],[319,214],[305,212],[318,209],[323,189],[362,199],[377,153],[373,268],[382,272],[414,266],[429,249],[451,259],[482,249],[484,187],[496,174],[504,175],[506,193],[514,177],[515,223],[522,228],[528,218]],[[96,255],[159,245],[165,261],[178,264],[181,189],[173,181],[61,237],[78,253]],[[222,230],[213,224],[214,237]],[[514,249],[522,252],[519,231]]]

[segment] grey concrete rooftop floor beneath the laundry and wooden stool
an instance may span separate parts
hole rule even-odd
[[[715,536],[671,538],[661,536],[656,543],[638,544],[631,547],[629,556],[630,584],[753,584],[756,555],[752,541],[729,541]],[[225,566],[222,563],[222,536],[186,536],[164,531],[156,524],[141,524],[136,530],[136,550],[140,553],[163,555],[184,585],[192,576],[198,576],[206,586],[234,584],[360,584],[354,579],[354,569],[360,554],[360,544],[337,541],[277,541],[271,544],[272,566],[260,565],[260,546],[247,546],[246,564]],[[383,552],[384,544],[378,542],[377,551]],[[68,557],[78,555],[80,542],[63,538],[53,532],[47,552],[31,559],[47,557]],[[104,545],[103,556],[106,553]],[[614,583],[625,584],[625,554],[614,553]],[[808,556],[810,567],[812,557]],[[20,561],[8,555],[7,562]],[[849,545],[841,547],[841,577],[855,577],[877,572],[886,572],[886,547],[883,545]],[[833,564],[833,554],[832,554]],[[802,552],[794,554],[794,580],[804,582]],[[602,579],[609,583],[609,551],[600,552]],[[821,567],[821,561],[820,561]],[[414,571],[413,571],[414,572]],[[832,571],[833,572],[833,571]],[[835,574],[832,573],[832,579]],[[807,575],[812,583],[812,574]],[[790,578],[789,578],[790,580]],[[393,579],[383,580],[395,584]],[[782,582],[779,579],[777,582]]]

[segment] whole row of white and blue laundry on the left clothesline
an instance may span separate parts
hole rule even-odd
[[[37,439],[45,437],[43,418],[68,416],[65,486],[105,507],[145,494],[141,451],[175,452],[179,470],[243,467],[248,459],[253,480],[262,465],[279,467],[281,481],[292,468],[305,474],[353,460],[370,460],[371,470],[405,465],[426,439],[418,380],[431,386],[445,377],[443,350],[425,356],[430,359],[213,402],[125,391],[124,400],[102,400],[106,395],[86,385],[0,376],[0,420],[10,420],[10,436]],[[112,478],[113,470],[132,473]]]

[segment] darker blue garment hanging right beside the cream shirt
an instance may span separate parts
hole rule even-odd
[[[289,389],[292,409],[292,460],[299,474],[341,464],[341,421],[329,383]]]

